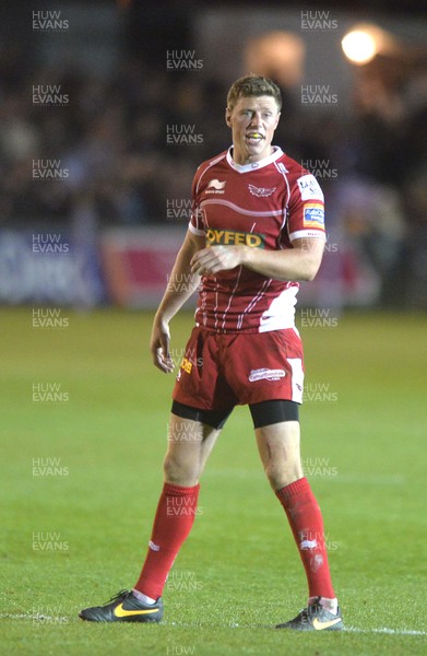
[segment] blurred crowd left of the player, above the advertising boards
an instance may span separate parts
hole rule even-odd
[[[190,197],[195,166],[228,145],[226,90],[194,75],[124,61],[100,80],[13,63],[0,56],[2,225],[67,222],[81,202],[99,225],[162,223],[168,199]]]

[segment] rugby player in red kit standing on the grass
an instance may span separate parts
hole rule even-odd
[[[271,80],[237,80],[225,113],[233,145],[195,173],[187,236],[151,339],[154,364],[171,373],[169,323],[199,290],[195,326],[173,393],[165,481],[149,550],[133,588],[82,610],[84,620],[162,619],[163,588],[193,525],[205,462],[233,408],[247,405],[308,583],[307,606],[277,628],[343,628],[322,515],[299,450],[304,361],[295,305],[298,281],[312,280],[321,263],[323,194],[309,172],[272,145],[281,107]]]

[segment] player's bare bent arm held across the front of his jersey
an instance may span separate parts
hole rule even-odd
[[[191,260],[192,272],[212,276],[244,266],[265,278],[284,281],[313,280],[322,261],[324,238],[300,237],[293,248],[266,250],[250,246],[211,246],[199,250]]]

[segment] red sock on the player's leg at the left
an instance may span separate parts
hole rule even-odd
[[[165,483],[154,518],[150,549],[134,588],[147,597],[162,595],[178,551],[194,523],[200,484],[181,488]]]

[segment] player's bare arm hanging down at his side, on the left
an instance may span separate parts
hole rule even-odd
[[[166,374],[170,374],[174,370],[174,362],[169,353],[169,323],[199,286],[200,276],[192,273],[190,261],[193,255],[204,246],[204,236],[187,232],[154,317],[150,349],[153,363]]]

